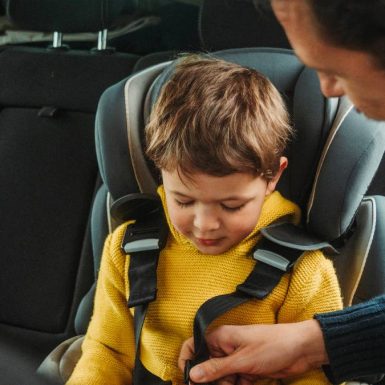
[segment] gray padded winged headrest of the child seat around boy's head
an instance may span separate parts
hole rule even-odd
[[[277,189],[301,207],[311,232],[327,241],[339,238],[377,170],[385,129],[351,110],[329,136],[339,100],[323,97],[315,71],[290,50],[245,48],[213,55],[257,69],[281,92],[296,135]],[[158,173],[144,156],[144,124],[174,66],[163,63],[141,71],[107,89],[100,99],[96,150],[114,201],[130,193],[154,193],[159,184]]]

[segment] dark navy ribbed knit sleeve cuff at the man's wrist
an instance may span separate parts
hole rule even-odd
[[[385,296],[315,318],[329,357],[324,371],[333,384],[385,373]]]

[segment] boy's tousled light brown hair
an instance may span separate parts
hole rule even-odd
[[[291,136],[285,104],[259,72],[188,55],[161,90],[146,126],[147,156],[159,169],[271,179]]]

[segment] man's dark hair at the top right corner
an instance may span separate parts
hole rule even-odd
[[[374,57],[385,69],[384,0],[307,0],[323,38]]]

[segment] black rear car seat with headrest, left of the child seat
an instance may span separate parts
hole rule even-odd
[[[23,28],[58,33],[105,31],[121,5],[4,2]],[[137,59],[64,45],[0,49],[0,336],[31,350],[36,366],[78,333],[78,304],[94,282],[89,222],[100,185],[96,106]]]

